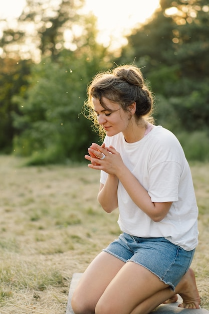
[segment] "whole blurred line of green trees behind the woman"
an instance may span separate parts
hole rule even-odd
[[[134,61],[154,93],[156,124],[176,134],[189,160],[209,160],[207,0],[161,0],[119,57],[97,43],[96,18],[83,5],[27,0],[16,27],[0,21],[0,151],[29,164],[82,161],[99,141],[80,114],[88,82]]]

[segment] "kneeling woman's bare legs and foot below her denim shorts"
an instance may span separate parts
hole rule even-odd
[[[146,268],[133,262],[125,264],[102,252],[83,274],[73,294],[72,307],[76,314],[148,314],[175,293],[183,297],[182,307],[199,308],[192,270],[173,292]]]

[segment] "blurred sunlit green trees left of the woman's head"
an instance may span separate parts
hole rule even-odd
[[[83,1],[62,0],[55,5],[49,0],[28,0],[17,28],[8,26],[4,30],[0,40],[3,47],[0,59],[2,151],[11,151],[14,139],[15,151],[20,155],[49,151],[50,145],[56,153],[59,151],[59,158],[76,159],[73,155],[82,153],[77,141],[77,134],[81,133],[79,121],[84,130],[87,124],[89,130],[89,121],[82,116],[77,119],[81,110],[81,106],[77,106],[78,99],[84,101],[87,82],[101,69],[102,60],[107,56],[106,49],[95,40],[96,18],[82,16],[78,11]],[[34,61],[38,64],[33,64]],[[41,84],[37,84],[38,81]],[[65,94],[69,88],[67,84],[71,86],[71,92]],[[61,121],[66,120],[67,114],[70,126]],[[75,151],[72,149],[74,142]],[[83,145],[83,139],[80,145]],[[65,147],[63,151],[62,147]],[[58,159],[58,155],[52,158]]]

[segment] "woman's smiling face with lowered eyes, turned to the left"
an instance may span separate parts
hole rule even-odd
[[[99,99],[92,99],[93,109],[97,114],[99,124],[103,126],[108,136],[113,136],[120,132],[125,136],[128,132],[131,113],[124,111],[118,103],[105,97],[102,97],[102,101],[108,109],[102,107]]]

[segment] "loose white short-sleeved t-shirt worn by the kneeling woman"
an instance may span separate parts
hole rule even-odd
[[[164,237],[185,250],[194,249],[198,243],[198,208],[189,165],[175,135],[162,126],[154,126],[134,143],[127,143],[122,133],[106,136],[104,142],[120,153],[152,202],[172,202],[164,219],[154,222],[136,206],[119,182],[120,229],[138,237]],[[107,176],[101,171],[102,184]]]

